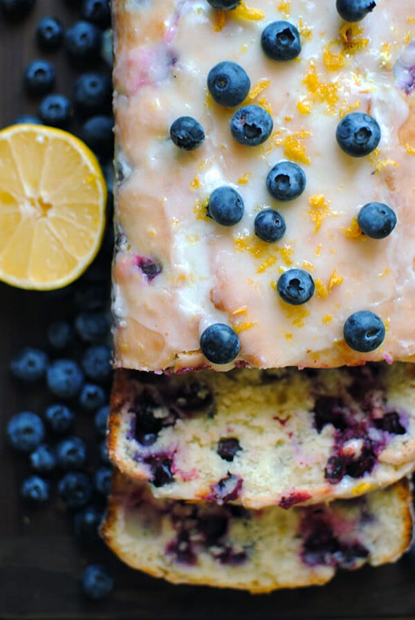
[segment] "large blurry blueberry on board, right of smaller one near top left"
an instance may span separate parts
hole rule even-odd
[[[75,67],[93,66],[100,58],[102,32],[89,21],[77,21],[66,30],[65,48]]]

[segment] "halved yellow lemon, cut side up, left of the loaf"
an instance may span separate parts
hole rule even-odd
[[[0,280],[37,290],[73,282],[100,248],[106,201],[97,158],[72,134],[0,131]]]

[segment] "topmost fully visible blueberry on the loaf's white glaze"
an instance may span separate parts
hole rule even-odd
[[[299,32],[289,21],[273,21],[262,31],[261,46],[273,60],[293,60],[301,52]]]

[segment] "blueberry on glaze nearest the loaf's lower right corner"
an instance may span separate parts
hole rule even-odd
[[[349,316],[344,323],[344,340],[355,351],[374,351],[385,340],[385,325],[382,319],[369,310],[360,310]]]

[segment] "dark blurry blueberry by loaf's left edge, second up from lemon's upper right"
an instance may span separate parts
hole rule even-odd
[[[73,85],[73,105],[81,118],[111,111],[112,82],[107,73],[82,73]]]

